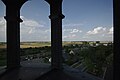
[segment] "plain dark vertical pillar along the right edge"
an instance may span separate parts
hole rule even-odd
[[[114,75],[113,80],[120,80],[120,0],[113,0],[114,23]]]

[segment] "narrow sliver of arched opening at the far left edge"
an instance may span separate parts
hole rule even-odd
[[[0,70],[6,67],[6,21],[5,5],[0,1]]]

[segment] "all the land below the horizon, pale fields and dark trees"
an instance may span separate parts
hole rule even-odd
[[[50,63],[50,42],[21,42],[21,61],[41,59]],[[63,63],[73,68],[102,77],[105,68],[113,61],[113,43],[100,41],[64,41]],[[0,43],[0,66],[6,65],[6,43]],[[81,66],[82,65],[82,66]]]

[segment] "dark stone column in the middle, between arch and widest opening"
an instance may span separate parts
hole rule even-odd
[[[51,19],[51,65],[52,69],[62,69],[62,0],[45,0],[50,4]]]

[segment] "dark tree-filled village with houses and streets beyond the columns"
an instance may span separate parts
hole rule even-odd
[[[81,44],[66,44],[63,46],[63,65],[70,66],[98,77],[103,77],[106,67],[113,61],[112,42],[82,42]],[[34,47],[21,49],[22,61],[37,61],[51,63],[51,47]]]

